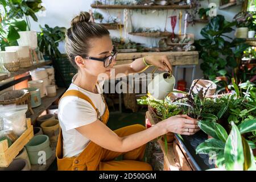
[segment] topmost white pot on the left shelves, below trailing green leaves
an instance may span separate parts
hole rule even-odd
[[[19,46],[29,46],[31,49],[38,47],[36,31],[20,31],[20,38],[17,40]]]

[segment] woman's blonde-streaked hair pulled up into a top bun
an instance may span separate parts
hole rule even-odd
[[[73,18],[65,40],[65,49],[72,65],[78,69],[75,57],[88,56],[89,48],[91,48],[90,39],[101,38],[105,35],[109,35],[109,31],[100,24],[90,22],[88,12],[81,12]]]

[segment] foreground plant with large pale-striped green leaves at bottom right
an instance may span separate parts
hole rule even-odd
[[[209,127],[212,125],[212,127]],[[196,148],[196,154],[216,154],[216,166],[219,169],[233,170],[256,170],[252,149],[253,142],[247,141],[242,134],[256,130],[256,120],[250,120],[236,126],[231,123],[230,134],[218,123],[199,121],[199,127],[213,138],[205,140]]]

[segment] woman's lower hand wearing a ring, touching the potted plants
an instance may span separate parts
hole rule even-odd
[[[167,133],[172,132],[181,135],[193,135],[200,130],[197,125],[198,121],[188,117],[188,115],[175,115],[162,122],[163,127],[166,127]]]

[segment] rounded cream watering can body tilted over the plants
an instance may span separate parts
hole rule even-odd
[[[158,100],[164,100],[174,90],[175,77],[173,75],[171,77],[168,76],[170,76],[170,73],[160,73],[148,84],[148,93],[152,97]]]

